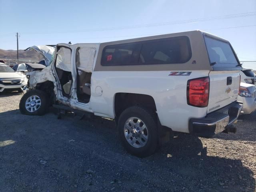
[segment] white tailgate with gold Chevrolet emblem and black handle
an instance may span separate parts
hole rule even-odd
[[[210,71],[210,93],[207,113],[237,100],[240,86],[239,71]]]

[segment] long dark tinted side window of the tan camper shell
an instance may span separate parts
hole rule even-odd
[[[102,66],[179,64],[191,58],[188,37],[172,37],[106,46]]]

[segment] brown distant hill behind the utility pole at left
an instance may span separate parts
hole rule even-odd
[[[17,58],[17,50],[3,50],[0,49],[0,59],[1,60],[16,60]],[[39,62],[43,60],[43,56],[36,52],[35,50],[24,51],[19,50],[19,60],[20,62]]]

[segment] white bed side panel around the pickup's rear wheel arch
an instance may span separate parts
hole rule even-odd
[[[154,98],[160,123],[174,131],[188,133],[190,118],[206,116],[206,108],[187,104],[187,81],[208,76],[209,70],[191,71],[190,76],[169,76],[170,71],[94,71],[92,73],[90,107],[95,114],[114,118],[116,93],[146,94]],[[96,94],[96,87],[102,95]]]

